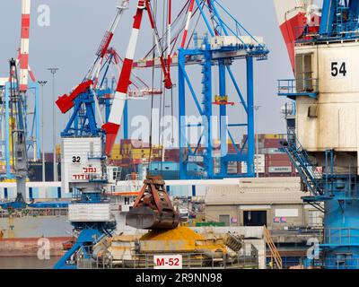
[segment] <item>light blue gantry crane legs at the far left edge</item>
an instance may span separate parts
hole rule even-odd
[[[4,161],[6,172],[0,177],[14,178],[12,173],[12,155],[10,146],[10,83],[5,83],[0,86],[0,91],[3,91],[4,101],[2,103],[2,114],[0,115],[0,127],[5,128],[5,138],[0,141],[0,150],[4,150],[4,156],[0,161]],[[32,115],[29,115],[29,98],[33,97]],[[27,149],[34,149],[36,158],[40,158],[40,103],[39,103],[39,83],[30,82],[28,85],[28,93],[25,98],[24,107],[22,107],[22,115],[25,117],[25,130],[27,131]],[[41,139],[42,140],[42,139]]]

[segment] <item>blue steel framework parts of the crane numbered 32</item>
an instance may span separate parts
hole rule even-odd
[[[109,67],[112,64],[113,55],[107,57],[104,64],[101,66],[101,82],[95,87],[95,90],[87,89],[79,94],[74,99],[74,108],[72,115],[66,125],[65,130],[61,133],[62,137],[71,136],[101,136],[104,140],[104,133],[101,127],[98,127],[96,119],[96,105],[94,97],[97,97],[100,107],[104,108],[104,118],[106,122],[109,120],[109,111],[111,108],[112,95],[114,94],[115,82],[113,78],[110,87],[109,79],[107,78]],[[94,79],[92,79],[94,80]],[[127,106],[125,107],[124,115],[124,135],[127,137]],[[101,158],[104,157],[101,154]],[[107,183],[104,180],[103,183]],[[106,202],[99,191],[77,191],[80,198],[73,204],[102,204]],[[76,193],[77,193],[76,192]],[[82,252],[84,258],[92,257],[92,245],[96,244],[105,236],[111,236],[112,231],[116,228],[116,222],[71,222],[75,230],[80,232],[74,246],[70,248],[64,257],[61,257],[55,269],[76,269],[77,265],[72,262],[76,254]]]

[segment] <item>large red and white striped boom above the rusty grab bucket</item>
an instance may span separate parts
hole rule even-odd
[[[122,116],[125,109],[125,103],[127,100],[127,91],[130,85],[130,78],[132,74],[137,40],[141,28],[144,11],[148,13],[151,28],[153,29],[154,41],[156,44],[157,53],[160,57],[162,73],[164,75],[164,81],[163,81],[164,86],[166,89],[171,89],[173,86],[171,82],[171,74],[169,72],[168,65],[166,65],[165,60],[163,58],[164,52],[160,44],[160,37],[153,19],[153,12],[152,12],[150,0],[139,0],[137,4],[137,10],[134,18],[131,37],[129,39],[129,43],[127,46],[126,58],[124,60],[121,74],[119,75],[118,87],[116,89],[116,93],[112,103],[112,108],[109,114],[109,122],[102,125],[102,129],[106,132],[105,152],[107,155],[109,155],[112,151],[113,144],[115,143],[116,137],[118,135],[118,130],[121,125]],[[171,18],[169,21],[171,21]]]

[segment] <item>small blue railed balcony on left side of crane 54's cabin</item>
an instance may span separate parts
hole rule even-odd
[[[285,79],[278,80],[279,96],[308,95],[316,96],[319,91],[318,79],[303,78],[300,80]]]

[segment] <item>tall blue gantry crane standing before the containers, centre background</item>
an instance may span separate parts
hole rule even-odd
[[[235,20],[231,13],[229,13],[222,4],[216,0],[208,0],[207,4],[202,5],[199,0],[196,0],[197,7],[201,16],[206,23],[206,28],[210,33],[211,39],[216,36],[234,36],[238,41],[238,44],[223,46],[221,48],[211,48],[211,44],[208,42],[207,37],[203,39],[203,43],[200,48],[180,48],[179,50],[179,123],[180,123],[180,179],[191,178],[230,178],[230,177],[254,177],[254,89],[253,89],[253,58],[260,60],[267,59],[269,53],[267,48],[258,43],[258,40],[250,35],[250,32],[246,30],[240,22]],[[214,23],[214,27],[211,26],[208,17],[206,16],[206,8],[210,14],[211,22]],[[222,16],[219,14],[219,10],[223,11],[225,16],[229,17],[235,24],[235,29],[232,29],[226,22],[223,21]],[[248,35],[253,44],[247,44],[241,35]],[[197,37],[194,39],[195,45],[197,43]],[[189,58],[197,58],[202,65],[202,99],[200,100],[193,88],[190,81],[191,77],[186,70],[186,62]],[[240,87],[236,82],[236,78],[232,73],[232,62],[236,59],[246,59],[247,63],[247,100],[244,100]],[[215,81],[212,76],[212,67],[218,66],[219,70],[219,94],[215,99],[213,97],[212,83]],[[228,123],[227,106],[232,103],[228,102],[226,75],[229,75],[236,93],[241,101],[241,108],[244,114],[247,116],[245,123]],[[188,90],[196,104],[197,112],[202,118],[201,121],[194,125],[188,125],[186,122],[186,84]],[[220,171],[215,173],[214,170],[214,146],[213,146],[213,105],[219,106],[220,115],[220,142],[221,142],[221,157],[218,159],[220,162]],[[186,134],[190,127],[203,127],[202,135],[199,138],[197,146],[194,150],[190,146]],[[234,142],[230,127],[245,127],[247,128],[247,140],[246,143],[238,148]],[[235,153],[227,152],[227,135],[231,139],[231,142],[236,150]],[[201,143],[202,144],[201,146]],[[247,147],[247,152],[243,152]],[[204,150],[203,150],[204,148]],[[204,151],[204,152],[203,152]],[[186,154],[186,152],[188,152]],[[191,160],[190,160],[191,159]],[[200,164],[204,166],[206,174],[189,175],[188,165],[192,159],[197,161],[199,159]],[[247,162],[247,173],[241,175],[233,175],[227,172],[228,162],[245,161]],[[198,162],[198,161],[197,161]],[[198,163],[199,163],[198,162]]]

